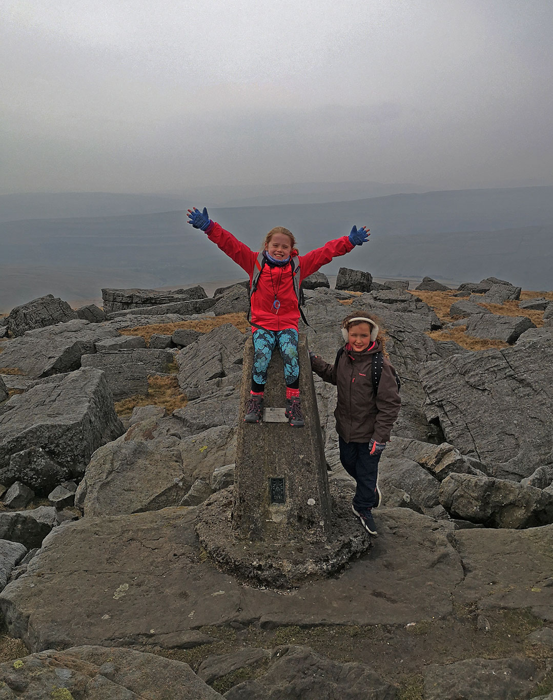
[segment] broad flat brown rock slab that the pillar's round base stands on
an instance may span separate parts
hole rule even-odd
[[[340,577],[285,594],[248,587],[205,561],[196,512],[85,517],[55,528],[27,573],[0,595],[8,630],[39,651],[157,645],[167,634],[231,622],[407,624],[448,615],[451,591],[463,580],[447,538],[452,526],[397,508],[379,511],[370,554]],[[351,528],[358,527],[352,515]]]

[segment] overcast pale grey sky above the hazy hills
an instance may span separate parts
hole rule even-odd
[[[551,0],[0,7],[0,193],[553,183]]]

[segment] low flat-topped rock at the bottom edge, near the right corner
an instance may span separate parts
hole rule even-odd
[[[531,659],[465,659],[423,670],[425,700],[517,700],[529,697],[542,673]]]

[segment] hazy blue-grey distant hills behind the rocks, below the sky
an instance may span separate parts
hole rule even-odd
[[[379,277],[428,274],[478,281],[493,275],[525,288],[553,288],[551,187],[229,207],[209,214],[251,248],[258,248],[269,228],[285,225],[297,235],[300,252],[349,233],[353,223],[367,224],[370,243],[327,265],[327,274],[344,265]],[[17,293],[15,267],[28,274],[28,286],[18,285]],[[87,289],[98,280],[92,294],[97,296],[101,286],[183,286],[230,279],[241,271],[186,223],[186,211],[0,224],[0,309],[57,293],[39,279],[58,274],[73,275],[73,298],[87,298],[85,280]]]

